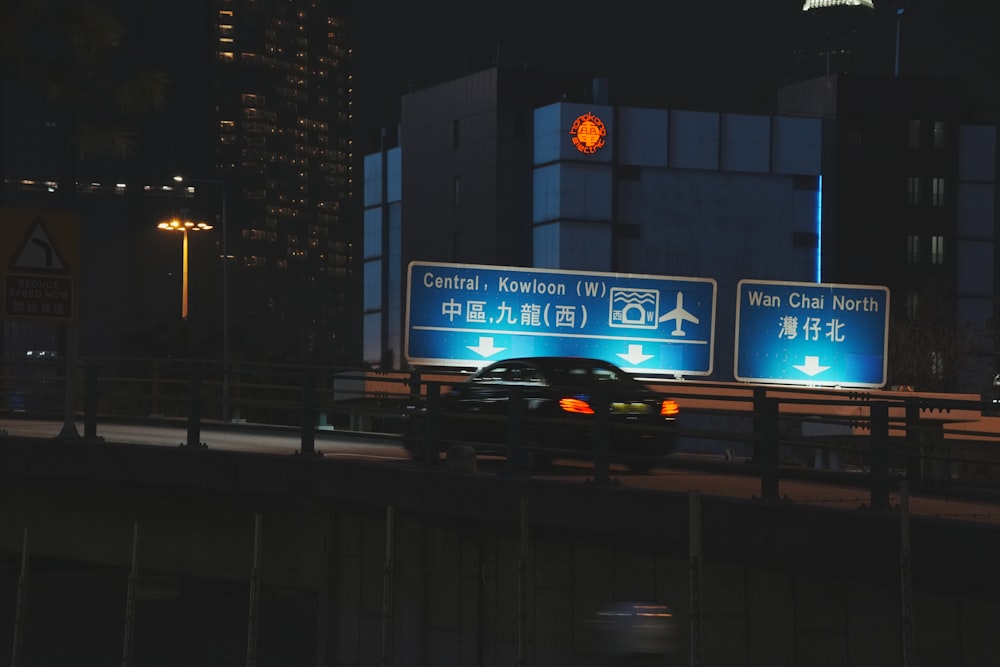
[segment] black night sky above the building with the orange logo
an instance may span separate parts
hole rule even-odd
[[[874,1],[878,58],[891,73],[898,3]],[[1000,108],[998,5],[909,0],[901,73],[962,76],[967,106]],[[394,122],[407,90],[489,67],[498,53],[503,62],[607,76],[622,103],[642,105],[658,86],[676,90],[678,107],[768,111],[788,78],[801,7],[802,0],[365,0],[355,17],[355,118],[364,140]]]

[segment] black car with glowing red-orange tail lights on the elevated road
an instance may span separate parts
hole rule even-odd
[[[599,409],[608,411],[607,420],[598,418]],[[467,444],[505,453],[513,442],[523,462],[538,466],[554,458],[594,460],[606,438],[609,461],[648,470],[674,451],[678,412],[676,401],[600,359],[507,359],[443,391],[436,421],[426,404],[413,406],[404,444],[422,458],[435,432],[439,452]]]

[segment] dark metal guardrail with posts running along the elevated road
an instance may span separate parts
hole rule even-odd
[[[401,434],[408,406],[433,411],[441,392],[464,379],[454,371],[86,359],[67,381],[52,359],[0,367],[0,413],[62,417],[71,391],[85,437],[96,436],[102,419],[183,419],[187,444],[202,446],[203,423],[238,421],[298,427],[310,453],[317,429]],[[1000,488],[1000,417],[980,397],[646,382],[680,404],[684,446],[757,466],[764,498],[776,497],[779,475],[802,468],[865,475],[873,505],[887,502],[897,478],[942,490]],[[517,447],[525,421],[512,410],[496,418],[497,428]],[[434,442],[425,464],[456,444]],[[607,447],[595,441],[597,480],[609,475]]]

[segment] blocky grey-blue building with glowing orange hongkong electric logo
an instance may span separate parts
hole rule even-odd
[[[992,340],[996,128],[963,125],[947,82],[873,98],[885,81],[831,75],[764,115],[527,80],[494,68],[412,93],[398,139],[366,156],[366,361],[407,366],[406,267],[443,261],[712,278],[721,381],[739,280],[884,285],[902,344],[947,332],[890,384],[988,384],[972,353]]]

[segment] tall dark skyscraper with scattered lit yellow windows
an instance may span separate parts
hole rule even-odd
[[[343,362],[353,326],[346,19],[326,0],[215,4],[207,166],[229,204],[231,342],[257,358]]]

